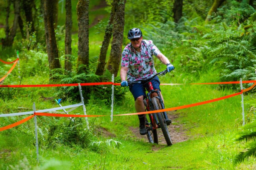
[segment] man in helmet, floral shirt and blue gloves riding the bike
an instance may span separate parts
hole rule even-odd
[[[130,29],[128,31],[128,39],[130,39],[131,43],[124,48],[122,53],[120,70],[121,87],[127,87],[127,81],[141,80],[143,78],[152,77],[155,75],[156,69],[154,67],[153,55],[155,55],[156,58],[167,66],[168,72],[174,70],[174,66],[170,63],[168,58],[159,51],[151,40],[143,40],[142,32],[139,28]],[[153,84],[153,89],[158,89],[160,91],[160,95],[163,100],[159,87],[159,78],[156,76],[153,80],[151,80],[151,82]],[[133,94],[135,100],[136,112],[145,111],[143,99],[145,99],[146,94],[143,90],[144,87],[148,88],[148,84],[146,83],[143,86],[143,83],[135,83],[132,86],[129,86],[130,92]],[[157,94],[154,95],[157,96]],[[139,133],[141,135],[145,135],[145,115],[138,115],[138,117]]]

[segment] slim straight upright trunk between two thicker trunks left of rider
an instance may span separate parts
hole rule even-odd
[[[66,73],[72,70],[72,62],[71,62],[71,29],[72,29],[72,8],[71,8],[71,0],[66,0],[66,32],[65,32],[65,71]]]

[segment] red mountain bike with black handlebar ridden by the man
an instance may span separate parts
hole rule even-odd
[[[148,89],[144,88],[144,92],[146,94],[146,90],[148,93],[146,94],[146,99],[143,100],[145,105],[145,111],[153,111],[164,109],[164,103],[160,96],[160,92],[157,89],[153,89],[153,85],[151,80],[153,80],[156,76],[160,77],[167,73],[167,70],[161,71],[152,77],[147,77],[142,80],[136,80],[132,82],[128,82],[128,86],[132,86],[134,83],[143,83],[144,85],[148,84]],[[153,95],[155,93],[155,96]],[[156,95],[157,94],[157,95]],[[168,146],[172,145],[172,140],[168,131],[167,125],[171,123],[171,120],[168,119],[166,112],[158,112],[158,113],[150,113],[145,114],[145,124],[146,124],[146,135],[149,140],[149,143],[158,143],[158,136],[156,129],[161,128],[164,138]]]

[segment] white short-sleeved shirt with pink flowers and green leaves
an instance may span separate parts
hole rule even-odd
[[[151,40],[142,40],[141,55],[129,43],[122,53],[122,67],[128,67],[127,81],[141,80],[156,74],[153,55],[157,56],[159,49]]]

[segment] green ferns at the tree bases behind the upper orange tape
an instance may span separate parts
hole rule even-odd
[[[94,63],[95,64],[95,63]],[[57,80],[60,80],[59,83],[95,83],[95,82],[109,82],[111,81],[112,75],[108,70],[106,70],[103,76],[97,76],[94,74],[95,68],[94,64],[90,65],[89,73],[76,74],[71,72],[68,75],[62,74],[64,70],[61,70],[61,73],[58,72],[54,74],[54,77]],[[115,83],[120,83],[121,78],[116,77]],[[123,95],[126,93],[127,88],[122,88],[120,86],[115,86],[115,95],[114,99],[119,101]],[[104,101],[106,103],[111,102],[112,89],[111,85],[97,85],[97,86],[82,86],[82,93],[85,102],[87,103],[90,99],[96,99],[99,101]],[[69,87],[57,87],[55,89],[55,96],[57,98],[62,98],[64,100],[80,100],[80,92],[77,86]]]

